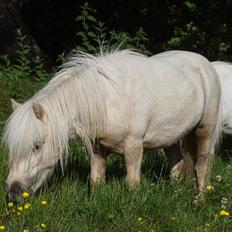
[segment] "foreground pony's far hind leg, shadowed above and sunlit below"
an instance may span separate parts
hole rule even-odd
[[[168,159],[170,178],[177,180],[183,169],[183,156],[181,154],[180,142],[164,148],[164,152]]]

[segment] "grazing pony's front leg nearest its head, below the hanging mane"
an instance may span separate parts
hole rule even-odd
[[[90,183],[95,186],[98,183],[105,182],[106,155],[100,151],[94,152],[90,160]]]

